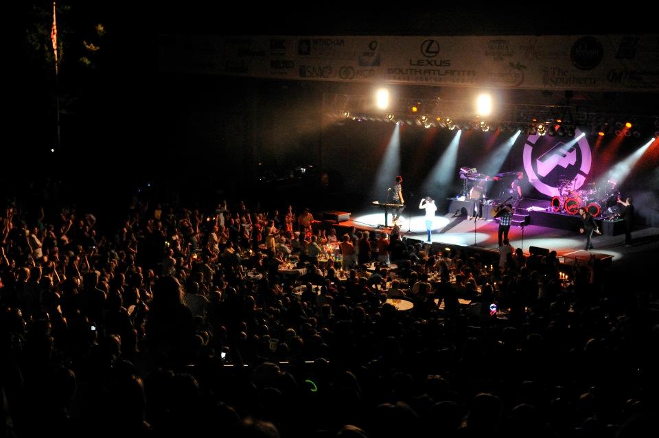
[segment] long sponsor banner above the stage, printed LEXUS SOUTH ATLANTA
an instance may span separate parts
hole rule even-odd
[[[173,36],[161,69],[505,89],[656,91],[659,36]]]

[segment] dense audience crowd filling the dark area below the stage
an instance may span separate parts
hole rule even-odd
[[[2,436],[656,434],[650,279],[281,211],[10,200]]]

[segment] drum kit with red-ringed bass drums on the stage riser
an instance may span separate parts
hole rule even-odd
[[[559,196],[551,198],[552,211],[565,212],[570,215],[579,213],[584,207],[594,217],[615,216],[616,199],[620,193],[616,191],[616,181],[609,180],[597,186],[595,183],[586,184],[581,189],[575,189],[575,179],[560,179],[558,185]]]

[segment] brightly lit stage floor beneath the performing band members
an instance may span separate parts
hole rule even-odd
[[[426,240],[426,222],[422,215],[403,215],[400,229],[407,238],[421,241]],[[384,222],[384,214],[369,212],[366,214],[354,214],[352,220],[341,222],[341,226],[354,225],[362,230],[379,231],[378,224]],[[480,249],[497,251],[498,249],[498,224],[492,220],[467,220],[467,216],[436,216],[432,228],[432,242],[446,244],[447,246],[476,246]],[[613,257],[614,266],[619,268],[636,268],[654,264],[656,253],[659,250],[659,229],[645,228],[632,233],[634,246],[627,247],[623,244],[624,235],[594,235],[592,244],[594,249],[590,255],[597,257],[610,255]],[[586,238],[577,230],[567,231],[540,225],[527,225],[523,229],[511,227],[509,240],[513,247],[521,246],[525,254],[529,254],[531,246],[556,251],[562,261],[569,262],[575,257],[581,260],[588,251],[583,251],[586,246]]]

